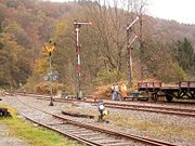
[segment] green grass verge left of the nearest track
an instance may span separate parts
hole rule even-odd
[[[10,130],[10,135],[24,140],[30,146],[81,146],[81,144],[65,138],[58,133],[34,127],[31,122],[18,118],[16,110],[8,105],[0,105],[0,107],[8,108],[13,116],[12,118],[0,117],[0,122]]]

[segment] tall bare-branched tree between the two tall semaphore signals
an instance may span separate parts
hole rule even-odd
[[[91,71],[93,77],[116,70],[115,78],[119,80],[126,65],[126,12],[120,9],[120,1],[112,1],[114,5],[109,2],[95,1],[84,5],[86,19],[93,23],[92,28],[86,29],[84,38],[91,38],[91,53],[86,51],[89,54],[86,58],[90,61],[89,70],[94,70]]]

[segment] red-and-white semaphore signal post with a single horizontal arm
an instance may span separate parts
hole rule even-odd
[[[81,44],[79,42],[79,32],[80,32],[80,27],[82,25],[92,25],[91,22],[74,22],[75,26],[75,32],[76,32],[76,58],[77,58],[77,98],[82,98],[82,92],[81,92],[81,81],[80,81],[80,74],[81,74],[81,68],[80,68],[80,50],[81,50]]]

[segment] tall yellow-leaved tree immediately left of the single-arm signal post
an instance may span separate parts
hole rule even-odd
[[[75,91],[76,54],[73,22],[69,19],[61,19],[56,24],[53,38],[56,41],[53,66],[60,74],[58,81],[65,84],[66,90]]]

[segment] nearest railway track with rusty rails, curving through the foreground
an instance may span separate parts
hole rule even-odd
[[[36,122],[39,125],[56,131],[70,138],[91,146],[131,146],[131,145],[154,145],[154,146],[176,146],[174,144],[142,137],[138,135],[116,132],[103,129],[90,123],[82,123],[65,118],[60,114],[51,114],[38,107],[31,106],[23,102],[20,97],[18,102],[23,106],[23,116]]]

